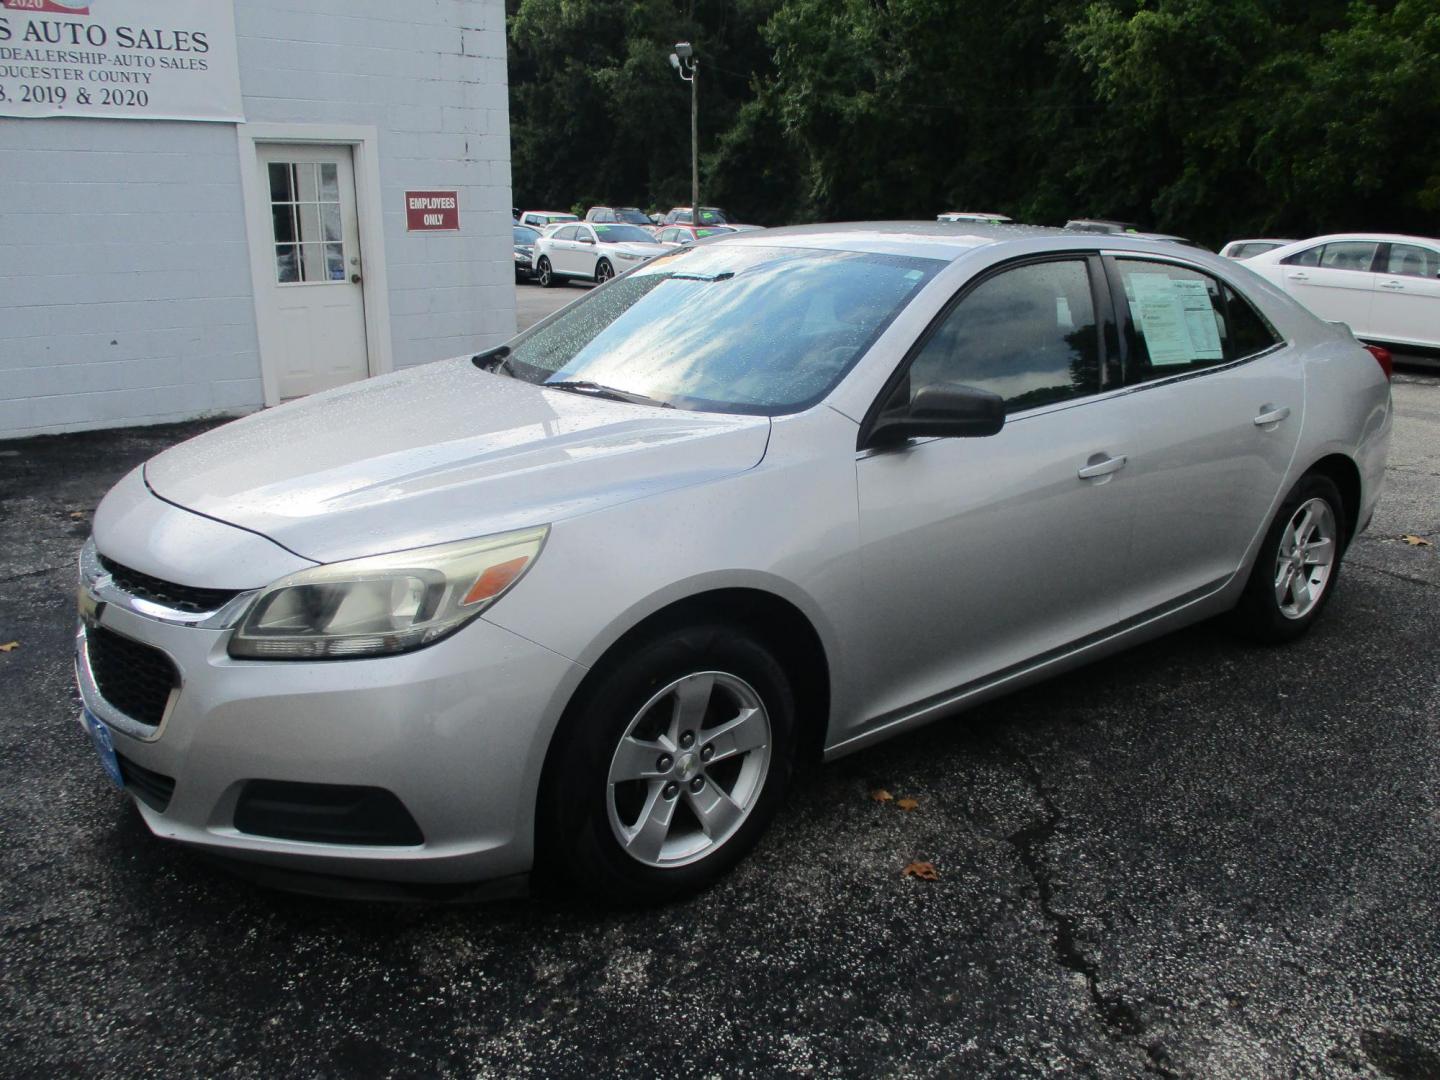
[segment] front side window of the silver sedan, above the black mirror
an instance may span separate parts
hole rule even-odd
[[[960,383],[1005,399],[1005,412],[1100,389],[1100,336],[1081,259],[1035,262],[982,281],[910,364],[909,395]]]

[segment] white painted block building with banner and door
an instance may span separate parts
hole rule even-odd
[[[501,0],[0,0],[0,438],[485,348],[510,249]]]

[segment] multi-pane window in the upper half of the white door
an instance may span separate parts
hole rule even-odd
[[[346,281],[340,168],[334,161],[271,161],[271,229],[281,285]]]

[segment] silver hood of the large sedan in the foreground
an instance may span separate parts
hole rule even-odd
[[[543,390],[465,357],[228,423],[145,465],[160,498],[327,563],[559,521],[759,464],[765,416]]]

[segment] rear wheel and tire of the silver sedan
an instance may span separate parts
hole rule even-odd
[[[1302,636],[1335,593],[1345,553],[1345,500],[1310,472],[1290,488],[1266,531],[1231,622],[1246,636],[1282,644]]]

